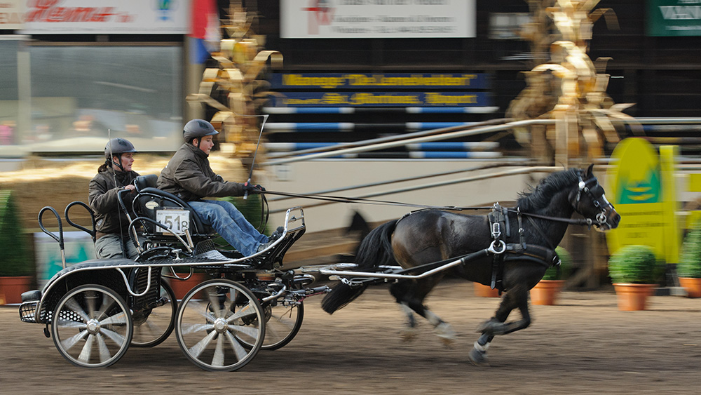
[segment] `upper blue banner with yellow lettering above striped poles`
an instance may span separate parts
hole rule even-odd
[[[271,75],[273,89],[486,89],[487,74],[306,73]]]

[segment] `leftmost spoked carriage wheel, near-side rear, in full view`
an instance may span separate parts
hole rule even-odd
[[[127,351],[133,333],[131,314],[114,290],[79,286],[59,300],[51,333],[65,359],[76,366],[102,368]]]

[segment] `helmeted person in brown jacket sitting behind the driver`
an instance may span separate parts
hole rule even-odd
[[[90,180],[88,203],[95,211],[95,250],[100,258],[128,257],[135,260],[139,251],[129,241],[129,220],[119,208],[117,194],[135,191],[139,173],[132,170],[134,145],[123,138],[113,138],[104,146],[105,161]],[[126,199],[129,201],[129,199]]]

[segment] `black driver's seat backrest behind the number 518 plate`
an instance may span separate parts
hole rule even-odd
[[[167,219],[167,210],[186,210],[189,213],[188,219],[190,223],[190,234],[193,236],[209,234],[207,228],[200,221],[200,217],[198,217],[197,213],[195,213],[195,211],[190,207],[190,205],[182,199],[180,199],[179,197],[175,196],[174,194],[171,194],[170,192],[165,192],[161,189],[156,189],[154,187],[144,187],[143,189],[139,190],[139,193],[135,197],[133,208],[135,213],[139,217],[147,217],[151,220],[161,222],[164,225],[173,225],[172,222],[166,223],[170,221],[170,219]],[[162,212],[160,221],[158,217],[159,211]],[[175,220],[175,218],[173,218],[172,220]],[[147,236],[147,239],[151,239],[151,237],[156,237],[160,240],[163,239],[163,237],[173,237],[163,235],[163,229],[151,222],[142,222],[144,225],[144,235]]]

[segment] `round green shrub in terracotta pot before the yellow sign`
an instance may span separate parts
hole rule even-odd
[[[608,274],[618,298],[618,309],[644,310],[661,273],[660,268],[649,246],[625,246],[611,255]]]

